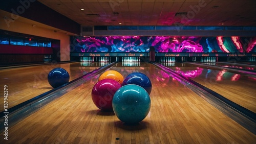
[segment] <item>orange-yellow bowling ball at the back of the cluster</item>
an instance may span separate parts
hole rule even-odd
[[[98,81],[103,80],[103,79],[113,79],[113,80],[119,82],[120,84],[122,84],[122,82],[123,82],[123,76],[116,70],[105,71],[103,74],[100,75]]]

